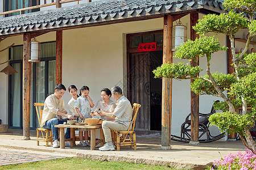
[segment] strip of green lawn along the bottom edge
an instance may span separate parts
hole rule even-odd
[[[81,158],[44,160],[34,163],[5,165],[0,169],[174,169],[166,166],[134,164],[126,162],[108,162]]]

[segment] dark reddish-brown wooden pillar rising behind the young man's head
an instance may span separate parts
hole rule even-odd
[[[63,31],[56,31],[56,84],[62,83],[62,40]]]

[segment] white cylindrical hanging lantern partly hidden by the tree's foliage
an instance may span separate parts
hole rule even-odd
[[[187,26],[179,22],[172,27],[172,50],[187,41]]]

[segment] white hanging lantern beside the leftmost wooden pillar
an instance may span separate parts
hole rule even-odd
[[[28,62],[40,62],[41,45],[39,41],[36,41],[35,37],[30,42]]]

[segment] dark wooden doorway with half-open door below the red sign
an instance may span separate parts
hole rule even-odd
[[[142,107],[136,130],[162,129],[162,79],[152,73],[163,63],[163,30],[127,35],[127,97]],[[138,52],[141,43],[156,42],[156,51]]]

